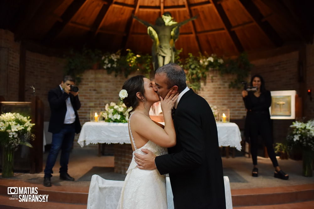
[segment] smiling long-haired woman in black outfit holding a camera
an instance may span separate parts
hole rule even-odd
[[[273,149],[269,107],[272,102],[270,91],[264,86],[262,76],[255,75],[251,79],[251,86],[257,87],[257,91],[242,91],[243,101],[247,110],[245,133],[250,137],[251,155],[254,168],[252,176],[258,176],[257,168],[257,136],[260,134],[267,148],[269,158],[275,167],[274,177],[288,180],[289,175],[280,170],[276,155]]]

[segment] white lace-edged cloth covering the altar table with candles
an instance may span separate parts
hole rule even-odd
[[[236,123],[216,123],[219,146],[241,150],[241,133]],[[85,143],[85,144],[84,144]],[[86,122],[78,138],[81,147],[88,144],[131,144],[127,123]]]

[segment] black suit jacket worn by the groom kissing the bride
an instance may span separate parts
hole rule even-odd
[[[190,89],[173,116],[176,146],[157,156],[169,173],[175,208],[225,208],[225,184],[216,121],[208,103]]]

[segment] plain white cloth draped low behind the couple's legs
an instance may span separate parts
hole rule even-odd
[[[231,190],[228,176],[224,176],[226,209],[232,209]],[[89,185],[87,209],[116,209],[124,181],[106,180],[93,175]],[[168,209],[173,209],[170,179],[166,177]]]

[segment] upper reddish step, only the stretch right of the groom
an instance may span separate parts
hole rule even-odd
[[[314,200],[314,184],[231,190],[233,206],[256,206]]]

